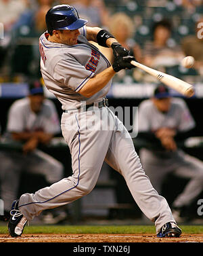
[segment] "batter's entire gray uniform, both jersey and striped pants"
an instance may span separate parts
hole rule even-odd
[[[91,77],[110,67],[106,57],[85,38],[85,28],[81,33],[76,45],[51,43],[46,33],[39,40],[45,85],[60,100],[63,109],[75,109],[63,113],[61,120],[62,134],[72,156],[72,176],[35,194],[22,195],[20,211],[31,220],[46,208],[62,206],[89,194],[105,160],[125,178],[133,198],[141,211],[155,222],[158,232],[164,223],[175,219],[166,200],[158,195],[145,175],[125,126],[108,107],[93,111],[76,109],[83,100],[97,105],[111,85],[109,81],[90,98],[78,94]],[[85,128],[86,121],[94,125]]]

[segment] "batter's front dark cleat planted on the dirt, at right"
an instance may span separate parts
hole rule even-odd
[[[164,237],[179,237],[181,236],[182,230],[174,223],[168,222],[162,226],[158,234],[158,238]]]

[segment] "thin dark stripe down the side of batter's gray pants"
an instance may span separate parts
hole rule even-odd
[[[80,174],[81,174],[81,160],[80,160],[80,155],[81,155],[81,133],[80,133],[80,126],[78,124],[78,120],[77,120],[77,117],[75,115],[75,119],[76,119],[76,122],[77,122],[77,125],[78,125],[78,142],[79,142],[79,148],[78,148],[78,181],[76,183],[76,185],[74,185],[74,187],[77,187],[78,184],[79,184],[79,181],[80,181]],[[20,208],[21,206],[26,206],[26,205],[29,205],[29,204],[44,204],[45,202],[49,202],[50,200],[53,200],[54,198],[57,198],[58,196],[61,196],[62,194],[74,189],[74,187],[71,187],[70,189],[67,189],[65,191],[63,191],[62,193],[54,196],[53,198],[50,198],[48,200],[45,200],[43,202],[29,202],[27,204],[21,204],[20,206],[18,206],[18,208]]]

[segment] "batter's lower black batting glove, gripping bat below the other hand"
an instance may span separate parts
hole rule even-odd
[[[121,69],[135,68],[135,66],[131,65],[132,60],[135,60],[133,56],[117,57],[114,60],[112,68],[114,69],[115,72],[118,72]]]

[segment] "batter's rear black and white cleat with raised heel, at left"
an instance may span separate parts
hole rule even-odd
[[[24,230],[24,227],[27,223],[26,217],[22,215],[20,210],[18,209],[19,200],[15,200],[12,204],[12,210],[10,211],[10,219],[8,223],[9,234],[12,237],[21,236]]]

